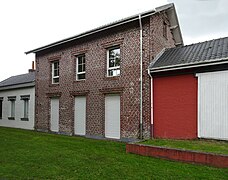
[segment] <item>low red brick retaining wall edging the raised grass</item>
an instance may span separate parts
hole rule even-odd
[[[199,163],[221,168],[228,167],[227,155],[201,153],[196,151],[164,148],[142,144],[127,144],[126,152],[139,154],[142,156],[152,156],[175,161]]]

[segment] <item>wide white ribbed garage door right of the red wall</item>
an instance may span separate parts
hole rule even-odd
[[[228,139],[228,71],[198,76],[198,136]]]

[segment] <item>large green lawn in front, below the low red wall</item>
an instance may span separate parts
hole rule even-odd
[[[227,179],[228,169],[125,153],[125,144],[0,127],[0,179]]]

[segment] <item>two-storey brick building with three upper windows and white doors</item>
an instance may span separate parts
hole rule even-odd
[[[150,60],[182,44],[168,4],[26,52],[36,54],[35,129],[149,138]]]

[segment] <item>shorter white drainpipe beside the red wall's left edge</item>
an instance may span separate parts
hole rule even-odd
[[[153,77],[150,74],[150,69],[148,68],[148,74],[150,76],[150,137],[153,138],[154,137],[154,96],[153,96]]]

